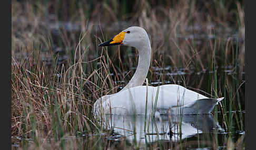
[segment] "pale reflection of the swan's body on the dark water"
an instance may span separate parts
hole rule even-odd
[[[214,129],[223,131],[210,114],[161,115],[157,120],[146,116],[146,121],[144,115],[105,115],[105,121],[114,133],[124,135],[129,141],[141,143],[159,140],[176,142]]]

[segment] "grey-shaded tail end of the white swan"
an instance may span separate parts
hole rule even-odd
[[[214,106],[218,104],[224,98],[219,99],[199,99],[190,104],[181,106],[180,112],[182,114],[211,114]]]

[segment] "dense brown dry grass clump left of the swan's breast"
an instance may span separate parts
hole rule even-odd
[[[48,68],[40,57],[34,62],[13,58],[12,135],[31,137],[44,131],[62,137],[77,131],[92,133],[91,127],[97,128],[92,105],[116,87],[106,76],[109,71],[104,56],[84,62],[78,47],[79,58],[67,69],[59,65]]]

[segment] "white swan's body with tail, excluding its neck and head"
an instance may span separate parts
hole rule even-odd
[[[157,89],[159,91],[157,92]],[[98,113],[104,114],[210,114],[223,98],[211,99],[177,84],[159,87],[140,85],[105,95],[97,100]],[[147,101],[147,106],[146,106]],[[146,111],[145,111],[146,110]]]

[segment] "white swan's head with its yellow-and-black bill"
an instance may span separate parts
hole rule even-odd
[[[150,40],[145,29],[133,26],[121,31],[121,33],[99,46],[125,45],[139,49],[146,44],[150,44]]]

